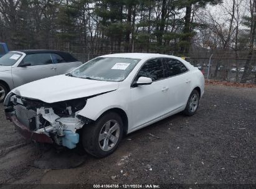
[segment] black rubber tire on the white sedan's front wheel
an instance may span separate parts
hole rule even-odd
[[[105,132],[103,131],[107,131],[105,130],[107,128],[106,126],[107,122],[110,122],[110,129],[111,129],[113,127],[113,125],[111,126],[111,124],[115,124],[116,123],[115,121],[118,123],[118,126],[119,126],[119,136],[116,137],[117,142],[115,143],[115,145],[112,145],[111,149],[103,150],[102,142],[103,144],[105,144],[105,139],[102,139],[102,141],[100,141],[100,134],[105,134]],[[111,131],[109,131],[108,134],[110,134],[110,132]],[[117,134],[117,132],[118,131],[116,131],[115,134]],[[107,136],[107,134],[105,134],[105,136]],[[116,150],[122,137],[123,137],[122,119],[118,114],[114,112],[109,112],[109,113],[103,114],[103,116],[100,116],[100,118],[98,118],[94,124],[83,126],[82,144],[83,144],[83,148],[85,149],[86,152],[88,152],[88,154],[91,154],[97,158],[102,158],[102,157],[107,157],[108,155],[112,154]],[[106,140],[110,141],[108,143],[112,142],[111,138],[113,139],[113,136],[112,137],[111,135],[107,136]]]

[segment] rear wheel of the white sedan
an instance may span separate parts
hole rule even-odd
[[[189,99],[187,101],[187,106],[183,112],[186,116],[193,116],[196,113],[198,106],[199,106],[199,93],[197,90],[193,90],[189,96]]]

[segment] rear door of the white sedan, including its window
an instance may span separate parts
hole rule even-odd
[[[179,60],[163,58],[164,76],[169,85],[169,111],[184,108],[191,91],[190,72]]]

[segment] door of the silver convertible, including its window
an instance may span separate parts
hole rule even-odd
[[[23,63],[30,63],[31,65],[21,67],[20,65]],[[50,53],[26,55],[18,67],[12,68],[14,87],[55,75],[56,69],[52,62]]]

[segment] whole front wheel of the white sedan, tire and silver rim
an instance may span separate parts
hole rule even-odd
[[[118,147],[123,136],[123,121],[116,113],[101,116],[95,124],[84,126],[82,143],[94,157],[106,157]]]

